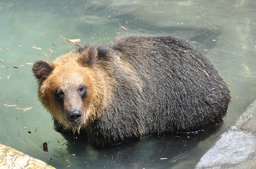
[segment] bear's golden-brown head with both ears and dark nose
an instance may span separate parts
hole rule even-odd
[[[67,129],[86,128],[104,107],[108,87],[96,62],[97,48],[87,46],[33,65],[39,100]]]

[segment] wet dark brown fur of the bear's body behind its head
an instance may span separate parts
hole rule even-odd
[[[128,36],[91,47],[88,65],[112,81],[112,100],[87,133],[96,146],[148,133],[187,132],[220,122],[230,91],[214,65],[173,36]],[[86,73],[86,72],[84,72]],[[44,76],[45,78],[45,76]],[[55,128],[63,126],[54,121]]]

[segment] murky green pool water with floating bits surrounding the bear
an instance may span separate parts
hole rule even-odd
[[[194,168],[256,98],[254,0],[1,1],[0,26],[0,143],[57,168]],[[208,55],[232,95],[217,132],[146,136],[96,149],[86,138],[64,137],[53,129],[37,99],[31,63],[75,48],[60,35],[80,38],[80,45],[100,45],[129,34],[176,35]],[[49,152],[42,150],[44,142]]]

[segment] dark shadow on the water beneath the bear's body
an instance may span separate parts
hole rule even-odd
[[[172,167],[189,159],[189,153],[201,141],[219,130],[222,123],[193,133],[147,135],[131,142],[107,147],[94,147],[86,134],[63,134],[67,151],[75,154],[76,167],[106,168]]]

